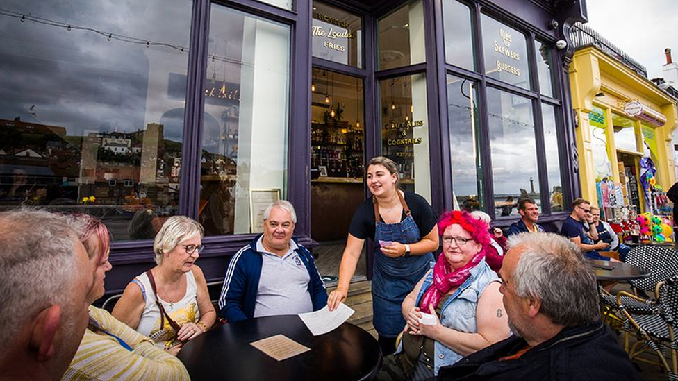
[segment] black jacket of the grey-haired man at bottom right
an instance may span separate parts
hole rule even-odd
[[[526,346],[524,339],[511,336],[440,368],[438,380],[640,381],[617,337],[601,322],[564,328],[518,359],[498,360]]]

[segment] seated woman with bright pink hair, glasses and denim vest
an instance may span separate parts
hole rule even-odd
[[[402,303],[402,351],[385,357],[377,380],[425,380],[509,337],[499,278],[485,262],[487,226],[467,212],[438,220],[443,253]]]

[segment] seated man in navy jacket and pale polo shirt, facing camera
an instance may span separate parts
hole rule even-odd
[[[317,311],[327,304],[313,254],[292,237],[295,208],[277,201],[263,217],[263,234],[235,253],[226,269],[219,309],[229,323]]]

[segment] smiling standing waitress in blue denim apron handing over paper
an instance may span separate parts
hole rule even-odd
[[[388,158],[370,160],[367,187],[372,198],[358,207],[351,221],[337,289],[329,295],[327,305],[334,310],[346,299],[365,238],[372,238],[376,248],[372,323],[379,333],[382,353],[388,355],[395,350],[395,339],[405,327],[402,301],[428,271],[431,252],[438,248],[437,219],[424,198],[398,189],[398,166]],[[426,231],[422,232],[415,220],[427,221]]]

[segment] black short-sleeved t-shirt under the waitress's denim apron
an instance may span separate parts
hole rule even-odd
[[[433,226],[438,223],[438,217],[433,213],[431,205],[422,196],[413,192],[404,192],[405,201],[410,208],[412,218],[419,228],[420,235],[424,237],[431,232]],[[403,210],[400,221],[405,219],[405,210]],[[351,219],[349,233],[356,238],[374,239],[374,202],[372,197],[367,198],[364,203],[358,206]]]

